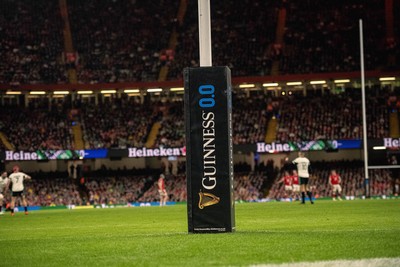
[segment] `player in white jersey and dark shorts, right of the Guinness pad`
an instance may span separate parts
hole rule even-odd
[[[310,160],[304,156],[304,152],[299,152],[298,157],[293,160],[293,164],[296,165],[297,174],[300,178],[301,204],[305,204],[306,192],[311,204],[314,204],[310,186],[308,185],[308,180],[310,178]]]

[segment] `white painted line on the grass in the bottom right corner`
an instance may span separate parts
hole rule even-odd
[[[296,262],[282,264],[257,264],[250,267],[394,267],[400,266],[400,258],[375,258],[361,260],[333,260],[316,262]]]

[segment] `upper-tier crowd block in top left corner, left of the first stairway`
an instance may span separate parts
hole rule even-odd
[[[0,6],[0,83],[66,83],[58,2],[2,1]]]

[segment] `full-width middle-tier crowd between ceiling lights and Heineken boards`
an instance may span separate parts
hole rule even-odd
[[[236,91],[232,100],[233,143],[264,142],[268,131],[274,130],[274,140],[278,142],[361,139],[360,99],[357,89],[346,89],[339,94],[328,91],[316,96],[279,97],[262,91],[250,95]],[[155,123],[160,128],[153,146],[185,144],[182,101],[141,103],[123,96],[99,103],[85,100],[49,103],[47,98],[29,103],[28,107],[0,106],[0,131],[16,150],[73,149],[72,126],[77,123],[82,126],[86,149],[142,147]],[[367,90],[369,138],[389,136],[389,115],[398,110],[397,105],[397,97],[389,89]],[[271,118],[277,119],[276,129],[268,129]]]

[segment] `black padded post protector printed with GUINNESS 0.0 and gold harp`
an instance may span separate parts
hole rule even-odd
[[[232,88],[228,67],[186,68],[188,230],[235,230]]]

